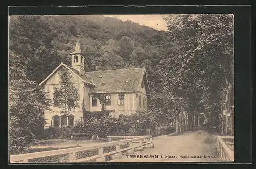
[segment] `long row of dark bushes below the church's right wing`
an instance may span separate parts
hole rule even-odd
[[[154,115],[151,111],[136,112],[129,116],[123,115],[119,119],[98,113],[91,117],[88,116],[86,119],[78,120],[73,132],[91,132],[94,136],[106,138],[108,135],[145,135],[146,129],[151,129],[154,133],[156,127]]]

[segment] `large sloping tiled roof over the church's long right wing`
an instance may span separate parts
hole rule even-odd
[[[118,69],[86,72],[95,84],[89,93],[114,93],[138,91],[145,68]]]

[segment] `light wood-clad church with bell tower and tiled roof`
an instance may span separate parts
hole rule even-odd
[[[79,107],[72,109],[65,117],[62,109],[52,105],[45,111],[45,118],[49,126],[74,126],[76,120],[83,116],[82,105],[86,111],[100,112],[101,104],[96,94],[106,94],[106,110],[113,110],[113,117],[130,115],[136,111],[147,110],[147,98],[150,95],[145,68],[130,68],[117,70],[88,71],[88,61],[81,52],[79,41],[76,42],[74,52],[70,53],[71,67],[63,62],[40,83],[53,98],[54,87],[60,87],[60,70],[66,68],[70,71],[73,85],[78,89],[80,99]],[[64,123],[65,121],[66,123]]]

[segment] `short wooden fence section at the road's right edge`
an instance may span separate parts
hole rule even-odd
[[[234,140],[233,136],[217,136],[216,148],[221,161],[234,161],[234,152],[228,148],[227,144],[233,145],[234,142],[223,140]]]

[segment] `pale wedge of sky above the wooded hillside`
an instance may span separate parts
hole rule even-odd
[[[163,20],[167,15],[104,15],[106,17],[113,17],[122,21],[130,20],[140,25],[145,25],[159,31],[167,31],[167,24]]]

